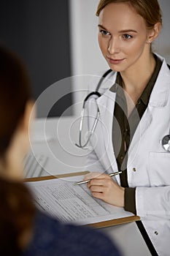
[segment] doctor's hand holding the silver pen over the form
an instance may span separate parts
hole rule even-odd
[[[120,187],[108,174],[88,173],[83,180],[91,179],[87,186],[93,197],[113,206],[124,207],[125,189]]]

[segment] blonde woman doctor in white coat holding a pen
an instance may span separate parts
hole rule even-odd
[[[138,215],[158,255],[169,255],[170,152],[163,142],[170,129],[170,70],[152,53],[161,10],[157,0],[101,0],[96,15],[101,53],[114,72],[96,99],[100,117],[84,180],[92,178],[93,197]],[[93,127],[91,118],[88,123]]]

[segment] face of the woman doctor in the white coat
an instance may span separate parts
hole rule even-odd
[[[112,70],[123,72],[144,64],[150,54],[147,26],[128,3],[111,3],[98,17],[98,44]]]

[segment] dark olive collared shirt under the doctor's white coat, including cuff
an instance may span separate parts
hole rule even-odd
[[[147,108],[150,100],[150,94],[154,87],[155,81],[158,77],[158,73],[161,69],[161,60],[155,56],[155,70],[150,78],[149,83],[145,87],[142,95],[139,97],[136,103],[136,108],[132,110],[131,115],[127,115],[127,104],[125,94],[123,91],[123,80],[120,72],[117,72],[116,83],[110,91],[115,91],[116,86],[116,102],[114,110],[114,118],[112,124],[112,143],[115,152],[115,158],[117,160],[117,166],[119,170],[123,170],[120,174],[120,184],[125,187],[125,211],[131,211],[136,214],[136,201],[135,201],[135,189],[128,187],[127,178],[127,160],[128,160],[128,148],[131,144],[131,140],[134,136],[134,132]]]

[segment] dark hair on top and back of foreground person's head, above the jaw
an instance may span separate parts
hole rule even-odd
[[[22,61],[15,53],[0,46],[0,157],[7,151],[31,97],[29,78]]]

